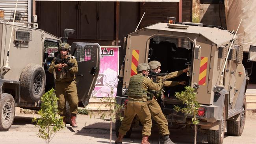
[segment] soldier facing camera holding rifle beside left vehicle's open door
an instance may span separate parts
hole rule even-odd
[[[77,127],[78,95],[75,74],[78,71],[78,66],[76,58],[70,55],[69,51],[69,44],[62,43],[59,46],[59,54],[52,60],[49,72],[54,73],[56,96],[59,98],[58,109],[60,115],[63,116],[63,122],[65,123],[65,101],[68,101],[71,114],[70,126]],[[66,60],[68,63],[61,63],[61,60]]]

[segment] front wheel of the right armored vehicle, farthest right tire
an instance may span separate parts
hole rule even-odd
[[[241,136],[243,128],[245,127],[246,118],[246,99],[243,99],[242,112],[240,113],[240,120],[227,120],[227,134],[230,136]]]

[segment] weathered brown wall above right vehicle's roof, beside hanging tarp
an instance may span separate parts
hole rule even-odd
[[[226,29],[224,4],[200,4],[200,23]]]

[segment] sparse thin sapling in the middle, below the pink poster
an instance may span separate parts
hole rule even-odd
[[[111,93],[108,94],[108,96],[101,98],[100,100],[102,102],[102,105],[98,107],[98,114],[100,114],[100,118],[105,120],[106,117],[110,118],[110,144],[112,141],[112,122],[115,122],[115,116],[121,109],[123,109],[122,105],[117,104],[117,101],[115,98],[113,98],[113,88],[111,88]],[[106,111],[109,110],[109,111]],[[119,118],[122,120],[122,116],[119,115]]]

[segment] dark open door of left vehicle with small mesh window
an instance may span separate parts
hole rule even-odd
[[[75,56],[78,62],[76,74],[78,100],[79,102],[83,101],[86,106],[100,70],[100,45],[98,43],[73,42],[70,54]]]

